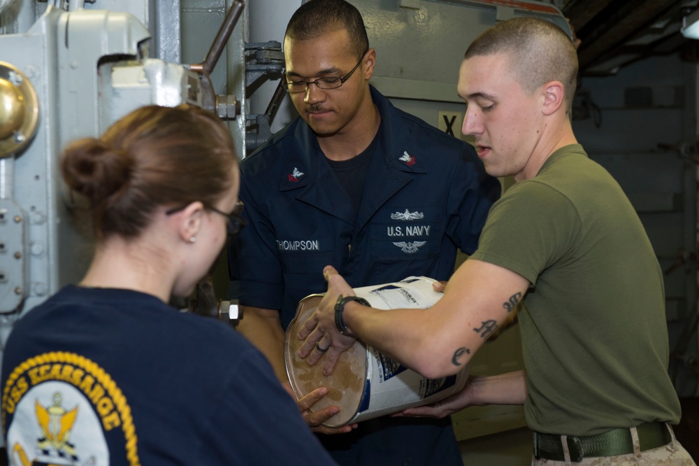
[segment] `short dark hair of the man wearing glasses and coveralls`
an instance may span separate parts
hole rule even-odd
[[[305,41],[328,31],[346,29],[349,48],[360,58],[369,49],[361,13],[345,0],[310,0],[291,15],[284,38]]]

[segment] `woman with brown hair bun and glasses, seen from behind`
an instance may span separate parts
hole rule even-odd
[[[72,143],[60,168],[87,199],[96,251],[80,283],[10,334],[10,464],[331,464],[257,349],[168,305],[243,226],[222,122],[188,106],[139,108]]]

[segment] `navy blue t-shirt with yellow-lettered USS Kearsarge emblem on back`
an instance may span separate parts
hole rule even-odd
[[[333,464],[257,349],[152,295],[68,286],[17,323],[2,367],[15,460]]]

